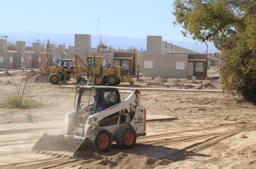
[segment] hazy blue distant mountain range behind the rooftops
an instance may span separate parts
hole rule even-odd
[[[32,33],[32,36],[31,36]],[[31,46],[31,41],[36,42],[36,39],[40,39],[41,42],[47,42],[47,39],[50,40],[50,43],[63,43],[65,42],[66,46],[69,46],[68,43],[72,43],[71,46],[75,45],[75,34],[73,33],[45,33],[45,32],[36,32],[36,31],[23,31],[23,32],[0,32],[0,35],[7,34],[8,40],[15,41],[26,41],[26,46]],[[92,37],[92,47],[97,47],[97,34],[91,34]],[[33,38],[33,40],[32,40]],[[147,50],[147,37],[145,38],[135,38],[135,37],[122,37],[122,36],[112,36],[112,35],[102,35],[103,40],[107,40],[108,46],[114,46],[117,49],[119,46],[121,49],[127,49],[127,47],[136,47],[140,50]],[[189,41],[174,41],[174,40],[164,40],[167,43],[172,43],[180,47],[185,47],[187,49],[203,52],[206,51],[205,44],[196,44]],[[208,52],[216,52],[216,48],[209,44]]]

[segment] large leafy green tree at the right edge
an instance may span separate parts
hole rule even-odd
[[[256,103],[256,1],[175,0],[173,9],[184,36],[221,50],[223,89]]]

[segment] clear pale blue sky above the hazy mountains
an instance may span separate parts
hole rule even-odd
[[[1,1],[0,32],[38,31],[183,41],[172,21],[173,0],[13,0]],[[186,41],[192,41],[187,39]]]

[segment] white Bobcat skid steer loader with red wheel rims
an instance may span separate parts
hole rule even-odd
[[[70,157],[82,157],[107,152],[113,141],[120,148],[132,148],[137,137],[146,135],[146,109],[140,105],[139,90],[87,86],[76,91],[75,110],[65,115],[63,134],[45,132],[31,151],[46,155],[68,151]],[[121,101],[120,93],[129,95]]]

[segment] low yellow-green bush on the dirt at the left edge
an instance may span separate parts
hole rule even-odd
[[[1,105],[6,108],[21,108],[21,109],[33,109],[41,108],[44,105],[43,101],[34,99],[24,99],[18,96],[10,96]]]

